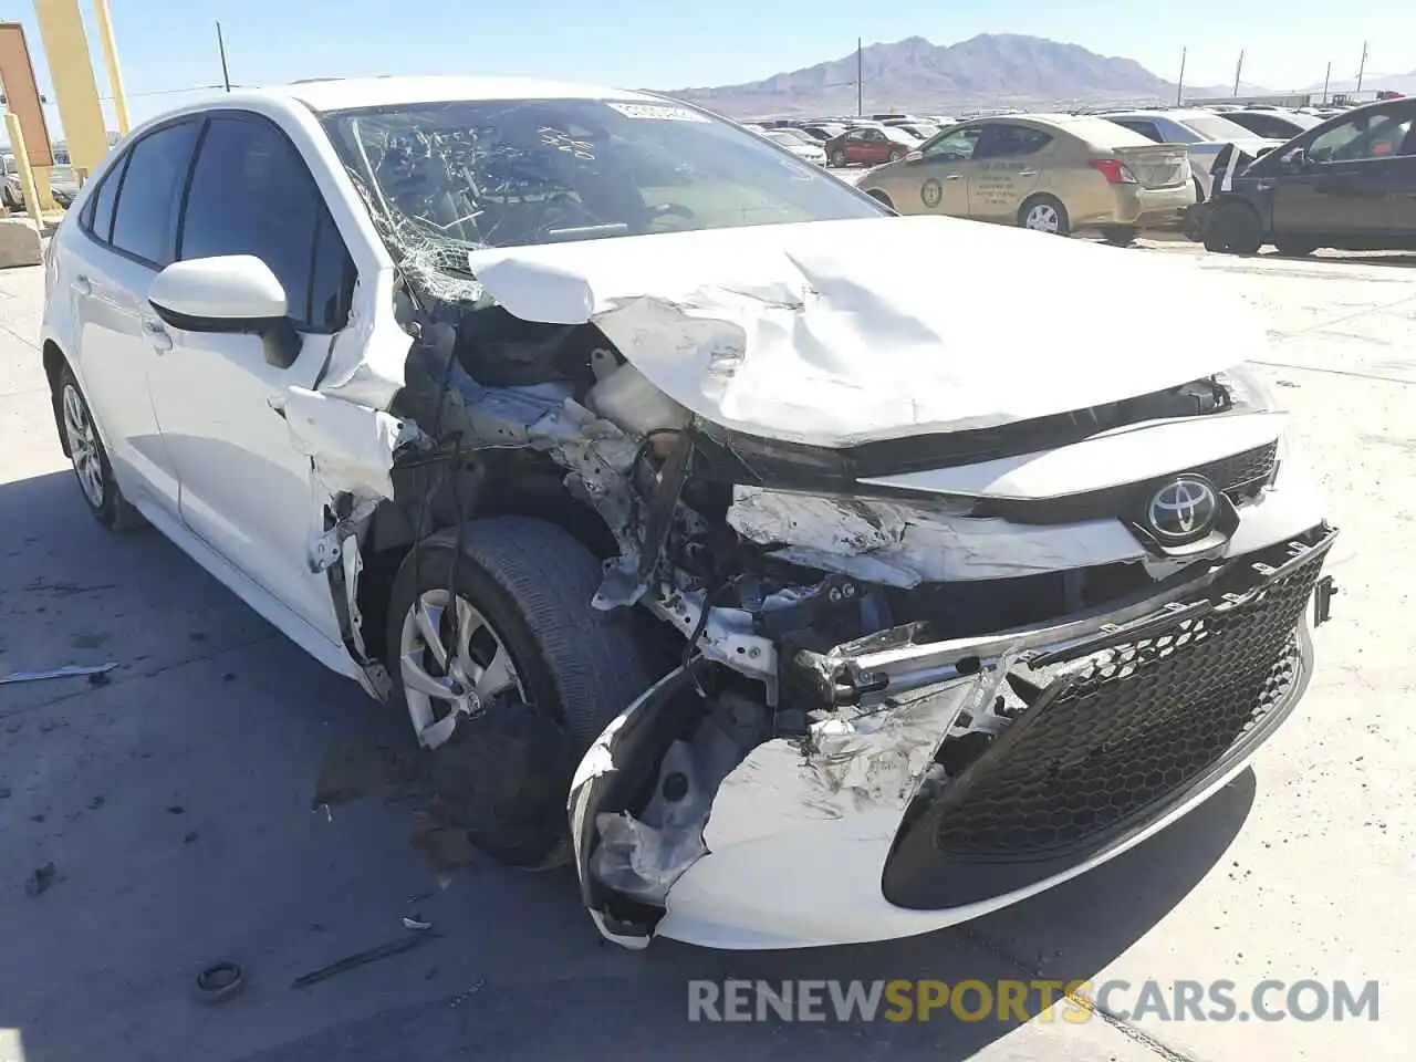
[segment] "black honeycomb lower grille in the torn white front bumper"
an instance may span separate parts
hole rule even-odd
[[[1212,610],[1096,653],[1048,685],[927,806],[916,799],[886,896],[936,908],[1021,888],[1140,828],[1250,749],[1300,691],[1297,624],[1325,552],[1310,549],[1259,589],[1211,598]],[[990,868],[970,875],[960,864]]]

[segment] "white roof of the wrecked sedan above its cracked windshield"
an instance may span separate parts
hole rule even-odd
[[[360,108],[401,106],[408,103],[446,103],[480,99],[617,99],[663,103],[663,96],[632,92],[603,85],[539,78],[330,78],[303,81],[251,93],[295,99],[312,110],[355,110]],[[236,93],[232,93],[235,96]]]

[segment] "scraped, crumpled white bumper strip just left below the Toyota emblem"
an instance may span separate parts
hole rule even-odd
[[[759,545],[780,545],[773,555],[783,561],[901,589],[1146,556],[1119,520],[1032,527],[959,515],[950,503],[833,498],[763,487],[735,487],[728,523]]]

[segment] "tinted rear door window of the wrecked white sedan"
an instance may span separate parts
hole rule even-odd
[[[200,127],[200,122],[183,122],[159,129],[133,144],[113,212],[115,251],[159,269],[173,263],[181,190],[191,169],[191,150]]]

